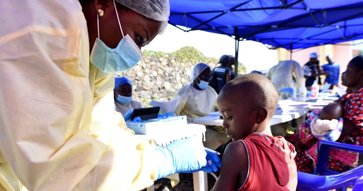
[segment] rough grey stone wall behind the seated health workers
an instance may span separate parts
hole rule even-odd
[[[128,77],[132,81],[132,99],[149,107],[151,100],[168,101],[178,89],[190,84],[189,76],[195,64],[194,61],[180,62],[167,55],[143,56],[130,71],[116,75]],[[213,69],[217,62],[205,64]]]

